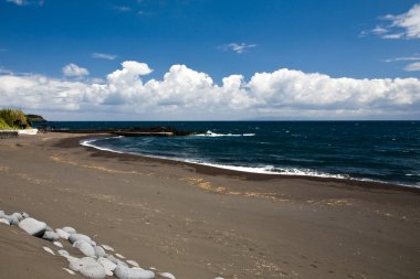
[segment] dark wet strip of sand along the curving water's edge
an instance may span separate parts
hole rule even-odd
[[[420,187],[414,186],[414,185],[395,184],[395,183],[387,183],[387,182],[381,182],[381,181],[366,181],[366,180],[358,180],[358,179],[351,179],[351,178],[342,179],[342,178],[323,178],[323,176],[300,175],[300,174],[282,174],[282,173],[271,174],[271,173],[246,172],[246,171],[221,168],[217,165],[187,162],[187,161],[181,161],[181,160],[176,160],[176,159],[125,153],[125,152],[119,152],[119,151],[114,151],[114,150],[103,150],[101,148],[85,146],[81,143],[81,141],[83,140],[93,140],[93,139],[111,138],[111,137],[115,137],[115,135],[98,133],[95,137],[90,135],[90,136],[82,136],[82,137],[76,137],[76,138],[67,138],[67,139],[63,139],[60,143],[57,143],[57,147],[65,147],[65,148],[84,147],[90,151],[95,150],[98,153],[98,155],[103,155],[103,157],[113,157],[111,154],[116,154],[116,157],[129,158],[133,160],[135,159],[150,160],[150,161],[159,162],[159,163],[186,165],[187,168],[195,169],[198,173],[208,174],[208,175],[225,175],[225,176],[242,178],[245,180],[253,180],[253,181],[296,179],[296,180],[308,180],[308,181],[318,181],[318,182],[340,182],[348,186],[398,190],[398,191],[407,191],[407,192],[420,194]]]

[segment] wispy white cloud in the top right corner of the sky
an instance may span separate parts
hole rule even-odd
[[[414,4],[408,12],[393,15],[387,14],[380,18],[384,23],[377,25],[370,32],[363,31],[361,36],[372,33],[382,39],[420,39],[420,3]]]

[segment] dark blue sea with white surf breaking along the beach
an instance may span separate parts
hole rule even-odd
[[[420,121],[90,121],[48,125],[69,129],[171,126],[202,133],[167,138],[109,137],[81,143],[246,172],[378,181],[420,187]]]

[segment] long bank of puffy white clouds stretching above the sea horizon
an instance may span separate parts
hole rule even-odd
[[[126,61],[102,83],[4,74],[1,106],[50,119],[420,119],[418,78],[334,78],[281,68],[249,81],[230,75],[218,85],[186,65],[146,81],[151,72]]]

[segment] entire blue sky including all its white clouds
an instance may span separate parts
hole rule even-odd
[[[420,1],[0,0],[0,107],[49,120],[420,120]]]

